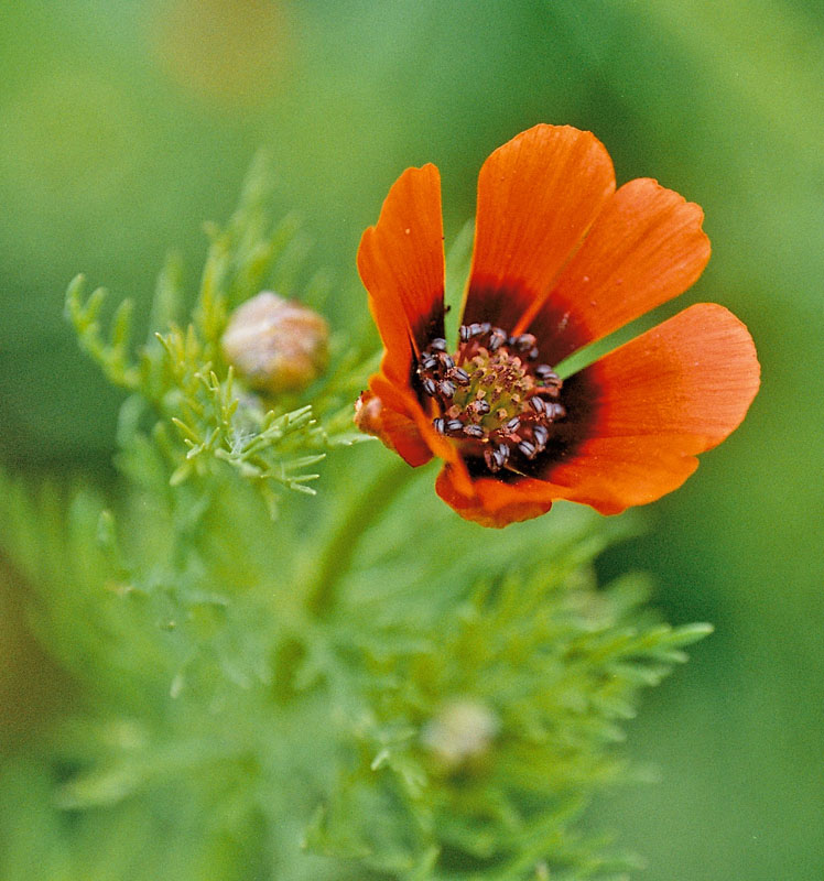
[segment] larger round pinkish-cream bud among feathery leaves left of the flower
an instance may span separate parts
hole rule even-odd
[[[262,291],[232,313],[224,357],[252,389],[270,394],[306,388],[328,361],[329,327],[311,308]]]

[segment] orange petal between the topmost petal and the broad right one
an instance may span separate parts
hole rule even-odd
[[[709,260],[704,213],[648,177],[625,184],[604,206],[545,302],[534,301],[517,333],[529,330],[541,360],[557,363],[683,293]]]

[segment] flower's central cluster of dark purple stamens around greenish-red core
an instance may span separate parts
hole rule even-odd
[[[462,325],[459,339],[454,356],[441,338],[421,352],[418,377],[440,412],[432,424],[467,455],[483,456],[492,474],[519,471],[519,459],[543,453],[553,423],[566,415],[561,379],[538,362],[532,334],[509,336],[487,322]]]

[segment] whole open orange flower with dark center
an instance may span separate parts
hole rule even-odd
[[[408,168],[358,251],[386,352],[356,418],[412,466],[441,457],[437,493],[487,526],[555,499],[614,514],[676,489],[758,390],[731,313],[691,306],[563,382],[552,366],[693,284],[709,259],[702,219],[650,178],[616,189],[589,132],[522,132],[480,170],[449,355],[440,175]]]

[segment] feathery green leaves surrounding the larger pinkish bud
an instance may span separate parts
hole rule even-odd
[[[290,407],[293,399],[273,402],[245,390],[225,362],[220,337],[230,311],[267,283],[294,293],[305,255],[305,237],[294,217],[274,227],[268,222],[269,192],[261,156],[226,229],[207,226],[209,251],[192,319],[185,325],[177,324],[187,297],[174,257],[158,280],[150,339],[137,352],[131,347],[132,302],[118,305],[106,333],[101,314],[107,292],[98,287],[84,297],[82,275],[68,286],[66,316],[80,346],[107,379],[137,393],[158,417],[177,429],[185,456],[172,456],[172,483],[203,477],[216,463],[225,463],[259,485],[274,514],[273,483],[313,493],[310,483],[318,475],[307,469],[324,458],[324,450],[365,439],[351,425],[351,400],[357,394],[351,377],[362,378],[365,365],[357,346],[344,354],[338,340],[338,360],[314,390],[313,403]],[[302,293],[316,300],[326,283],[326,275],[316,273]],[[318,410],[328,417],[323,424],[316,418]]]

